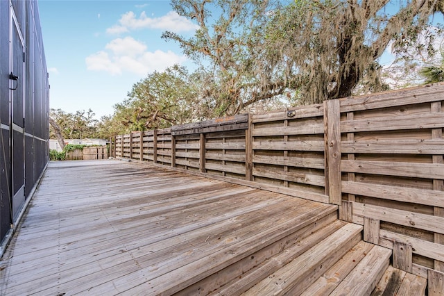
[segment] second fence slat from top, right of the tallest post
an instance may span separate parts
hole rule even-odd
[[[388,123],[389,122],[389,123]],[[377,117],[341,122],[342,133],[358,131],[398,131],[406,129],[436,129],[444,127],[444,113]]]

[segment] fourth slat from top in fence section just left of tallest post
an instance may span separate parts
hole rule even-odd
[[[294,156],[268,156],[255,155],[253,163],[265,163],[270,165],[287,165],[289,167],[309,167],[324,170],[324,158],[294,157]]]

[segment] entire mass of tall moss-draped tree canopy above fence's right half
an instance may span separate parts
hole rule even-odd
[[[444,0],[173,0],[200,28],[165,32],[201,66],[220,115],[282,94],[302,103],[347,97],[359,83],[384,88],[378,58],[402,54],[443,13]],[[425,40],[432,44],[434,35]],[[428,47],[429,44],[422,44]]]

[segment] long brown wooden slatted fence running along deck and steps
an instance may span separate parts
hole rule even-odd
[[[114,139],[151,161],[339,205],[393,265],[444,279],[444,84]],[[241,181],[244,180],[244,181]],[[433,281],[432,283],[430,281]]]

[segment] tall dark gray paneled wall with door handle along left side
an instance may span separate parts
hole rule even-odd
[[[49,161],[49,82],[35,0],[0,0],[0,240]],[[10,73],[18,76],[10,79]],[[10,88],[17,88],[10,90]]]

